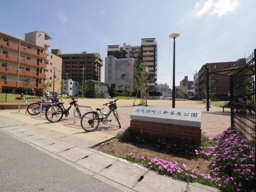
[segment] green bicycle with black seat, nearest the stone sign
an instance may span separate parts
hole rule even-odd
[[[116,111],[117,106],[116,106],[116,101],[118,99],[114,100],[114,101],[110,101],[106,104],[109,107],[109,112],[108,113],[103,113],[101,112],[101,109],[104,108],[97,108],[96,110],[99,111],[99,113],[97,111],[94,110],[90,110],[90,112],[87,112],[83,115],[83,117],[81,118],[81,126],[84,129],[84,131],[87,132],[92,132],[95,131],[98,127],[99,127],[99,122],[101,121],[103,124],[107,124],[108,122],[111,122],[112,120],[108,120],[109,115],[111,114],[111,112],[113,112],[115,119],[117,120],[118,124],[119,124],[119,128],[121,128],[121,124],[119,122],[119,116],[118,113]]]

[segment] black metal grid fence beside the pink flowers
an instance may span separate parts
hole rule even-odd
[[[231,126],[255,154],[255,54],[230,76]]]

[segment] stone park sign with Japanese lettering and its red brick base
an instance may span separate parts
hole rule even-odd
[[[151,136],[186,138],[201,144],[202,110],[137,106],[130,115],[131,129]]]

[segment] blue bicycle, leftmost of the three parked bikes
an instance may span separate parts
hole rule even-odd
[[[51,103],[44,103],[42,104],[42,111],[45,111],[46,108],[49,105],[57,104],[59,102],[59,99],[56,97],[49,98],[51,100]],[[42,100],[38,102],[31,103],[29,106],[27,106],[27,112],[31,115],[37,115],[40,113],[40,106],[42,102],[47,102],[47,100]]]

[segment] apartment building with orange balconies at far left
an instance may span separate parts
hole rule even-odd
[[[25,34],[25,40],[0,32],[0,78],[2,90],[7,93],[23,93],[24,78],[30,80],[30,90],[42,95],[41,85],[46,77],[49,58],[46,50],[52,39],[47,33],[34,31]]]

